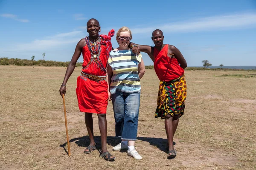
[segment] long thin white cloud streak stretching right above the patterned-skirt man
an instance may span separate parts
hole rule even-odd
[[[159,26],[154,27],[131,28],[131,30],[133,34],[151,33],[155,29],[161,29],[164,33],[173,33],[244,28],[250,26],[256,26],[256,13],[204,17],[164,25],[159,24]]]

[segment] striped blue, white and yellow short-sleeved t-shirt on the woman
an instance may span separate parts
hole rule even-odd
[[[113,71],[110,84],[111,94],[115,94],[116,90],[126,93],[140,91],[138,66],[141,57],[141,54],[136,56],[131,50],[112,50],[110,52],[108,64]]]

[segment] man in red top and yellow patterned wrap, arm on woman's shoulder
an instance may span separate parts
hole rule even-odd
[[[173,136],[179,123],[179,117],[183,115],[186,100],[186,80],[184,69],[187,67],[186,60],[180,51],[173,45],[163,44],[163,32],[159,29],[153,31],[151,39],[154,47],[148,45],[136,45],[130,43],[133,52],[138,50],[149,55],[154,62],[154,70],[160,79],[157,109],[155,118],[165,119],[165,128],[168,144],[167,159],[176,156],[173,147]]]

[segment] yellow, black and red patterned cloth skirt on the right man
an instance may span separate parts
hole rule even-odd
[[[161,119],[164,119],[167,114],[172,117],[174,114],[182,116],[185,109],[185,100],[186,80],[184,75],[169,82],[160,81],[155,118],[161,117]]]

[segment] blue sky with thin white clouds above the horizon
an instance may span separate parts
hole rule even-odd
[[[46,60],[70,61],[90,18],[99,20],[102,34],[128,26],[138,44],[154,45],[151,33],[161,29],[188,66],[204,59],[256,65],[256,0],[0,0],[0,57],[38,60],[45,52]],[[153,65],[147,54],[143,59]]]

